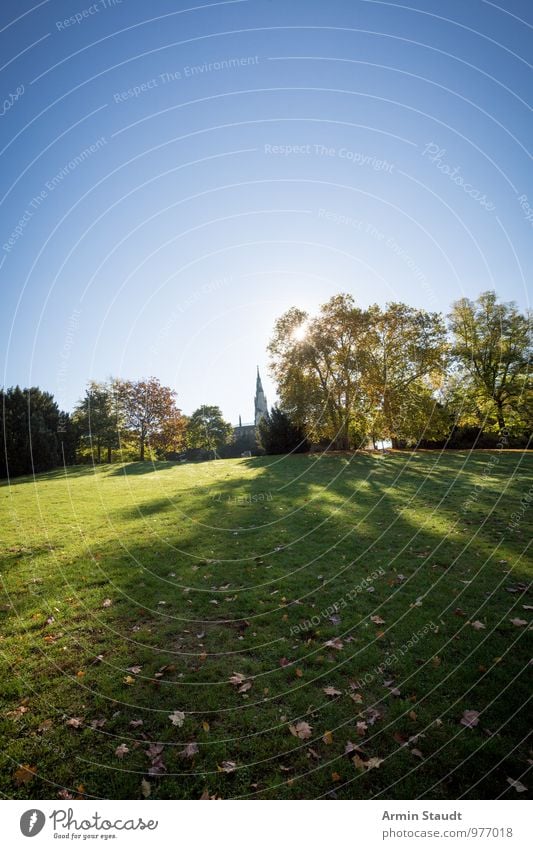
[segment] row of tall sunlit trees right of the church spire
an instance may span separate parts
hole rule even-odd
[[[293,308],[269,345],[280,406],[317,442],[348,448],[449,439],[458,427],[527,442],[531,323],[485,292],[439,313],[337,295],[316,317]]]

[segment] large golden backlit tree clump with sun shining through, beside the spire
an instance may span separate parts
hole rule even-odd
[[[296,308],[281,316],[269,352],[282,409],[314,439],[345,449],[442,429],[432,415],[446,361],[440,315],[405,304],[362,310],[336,295],[315,318]]]

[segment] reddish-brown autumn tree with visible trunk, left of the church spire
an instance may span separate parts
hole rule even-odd
[[[147,380],[115,380],[113,391],[117,413],[126,432],[139,444],[139,459],[144,461],[146,444],[156,442],[165,422],[179,412],[176,393],[161,386],[156,377]]]

